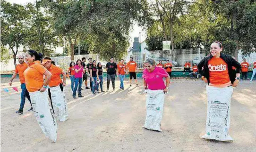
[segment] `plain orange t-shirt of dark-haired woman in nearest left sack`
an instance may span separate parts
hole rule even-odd
[[[43,65],[36,64],[36,62],[28,65],[27,69],[24,71],[24,76],[26,89],[29,92],[38,91],[43,87],[43,73],[46,71],[47,69],[45,69]]]

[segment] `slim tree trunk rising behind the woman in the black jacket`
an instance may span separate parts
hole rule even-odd
[[[239,40],[238,40],[238,32],[237,32],[237,13],[238,13],[237,11],[238,11],[237,7],[235,6],[232,12],[231,28],[232,28],[232,31],[234,32],[233,40],[236,43],[234,56],[235,56],[235,59],[238,61]]]

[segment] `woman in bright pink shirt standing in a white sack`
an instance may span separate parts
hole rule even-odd
[[[146,97],[146,120],[144,128],[162,132],[161,120],[164,103],[164,93],[167,93],[170,83],[169,74],[162,68],[155,65],[153,58],[145,61],[145,69],[142,78],[144,80]],[[162,78],[165,78],[166,85]]]

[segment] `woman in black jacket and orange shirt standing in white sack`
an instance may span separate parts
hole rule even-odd
[[[201,78],[208,84],[206,134],[202,138],[229,141],[233,140],[228,134],[230,100],[233,87],[239,84],[241,65],[231,56],[221,53],[220,42],[213,42],[210,51],[211,55],[198,64]],[[236,68],[236,76],[233,74],[232,66]]]

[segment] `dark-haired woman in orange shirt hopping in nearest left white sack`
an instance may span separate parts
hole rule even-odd
[[[57,141],[57,123],[48,100],[47,85],[51,80],[51,72],[38,64],[41,56],[34,50],[26,52],[25,59],[28,63],[27,69],[24,71],[26,80],[26,89],[31,98],[31,104],[34,116],[41,127],[43,133],[56,143]],[[46,76],[43,82],[43,75]]]

